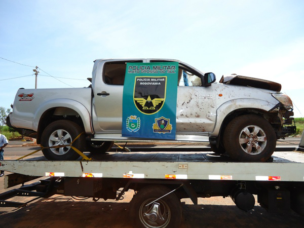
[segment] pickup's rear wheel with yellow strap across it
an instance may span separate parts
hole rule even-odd
[[[83,129],[76,123],[67,120],[59,120],[49,124],[43,131],[41,136],[41,145],[44,147],[54,145],[70,144]],[[82,134],[72,146],[84,151],[85,148],[85,134]],[[42,150],[44,156],[48,160],[76,160],[80,157],[71,147],[48,148]]]

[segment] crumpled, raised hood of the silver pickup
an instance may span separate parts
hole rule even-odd
[[[219,80],[219,83],[223,84],[230,84],[236,86],[248,86],[254,88],[260,88],[265,90],[273,90],[273,91],[281,91],[281,84],[263,80],[263,79],[256,79],[250,78],[241,75],[229,75],[229,76],[222,76]]]

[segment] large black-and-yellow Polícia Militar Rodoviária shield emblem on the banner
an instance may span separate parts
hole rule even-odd
[[[166,100],[167,77],[135,77],[133,100],[136,108],[145,115],[162,109]]]

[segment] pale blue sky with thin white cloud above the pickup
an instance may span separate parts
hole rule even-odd
[[[28,65],[0,58],[0,106],[34,88],[30,66],[45,71],[38,88],[86,87],[95,59],[170,58],[217,81],[237,73],[281,83],[303,117],[303,15],[302,0],[0,0],[0,57]]]

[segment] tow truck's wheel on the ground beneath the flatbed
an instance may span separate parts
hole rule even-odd
[[[162,185],[150,185],[140,189],[130,203],[130,219],[134,227],[179,227],[181,222],[181,204],[174,193],[145,206],[170,191],[170,188]]]

